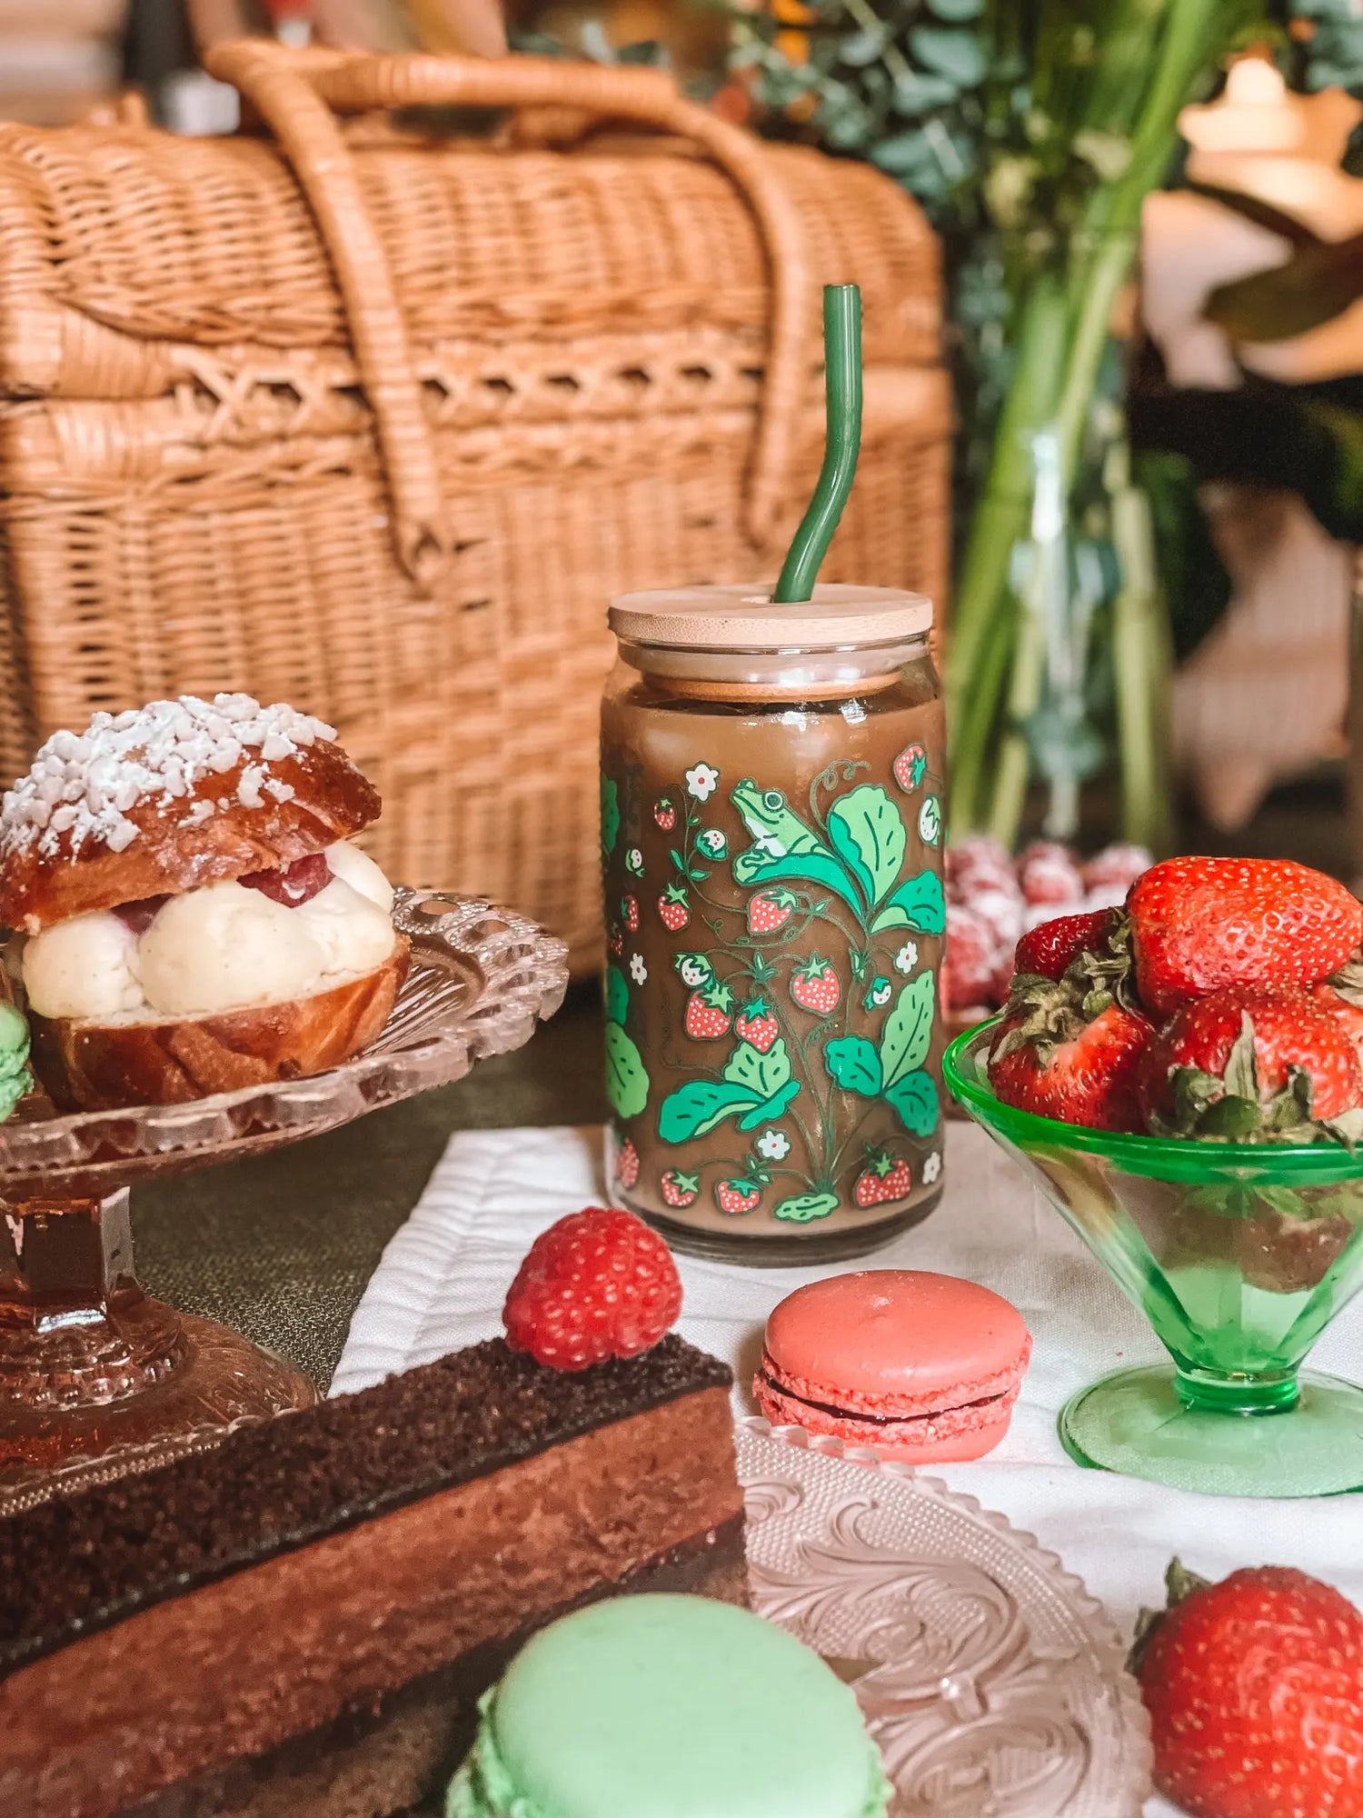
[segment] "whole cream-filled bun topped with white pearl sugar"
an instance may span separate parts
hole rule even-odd
[[[58,1104],[200,1098],[373,1042],[409,962],[349,844],[376,814],[331,727],[244,694],[55,734],[0,809],[0,909]]]

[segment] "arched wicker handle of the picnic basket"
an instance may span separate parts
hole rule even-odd
[[[416,105],[572,107],[658,127],[707,151],[752,209],[771,265],[771,353],[747,484],[747,531],[758,545],[767,542],[803,396],[803,335],[812,320],[812,276],[800,213],[774,178],[758,140],[685,100],[672,80],[656,69],[538,56],[494,62],[373,56],[322,47],[289,49],[262,38],[213,45],[205,65],[260,113],[313,207],[378,420],[398,556],[423,587],[431,585],[451,549],[440,471],[393,275],[367,216],[336,115]]]

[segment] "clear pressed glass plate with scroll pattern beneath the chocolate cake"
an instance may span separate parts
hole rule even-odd
[[[752,1607],[852,1685],[890,1818],[1139,1818],[1116,1625],[1030,1534],[874,1453],[738,1423]]]

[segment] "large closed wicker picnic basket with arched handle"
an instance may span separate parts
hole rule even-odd
[[[391,874],[583,967],[607,596],[776,571],[825,282],[867,351],[825,574],[941,593],[932,235],[651,69],[209,64],[269,133],[0,127],[0,771],[96,707],[291,700],[378,782]],[[453,140],[389,118],[418,104],[511,113]]]

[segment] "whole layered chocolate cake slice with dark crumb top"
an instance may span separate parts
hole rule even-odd
[[[747,1600],[729,1385],[492,1340],[0,1522],[0,1813],[407,1809],[545,1622]]]

